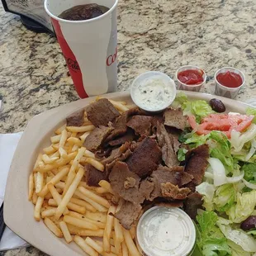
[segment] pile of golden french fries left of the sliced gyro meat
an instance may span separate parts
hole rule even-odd
[[[121,112],[129,109],[126,102],[111,103]],[[78,244],[90,256],[139,256],[135,227],[125,230],[112,216],[118,209],[110,203],[111,184],[102,180],[100,187],[89,187],[84,181],[84,164],[104,171],[83,147],[94,128],[85,113],[83,126],[64,125],[50,137],[51,145],[39,154],[29,176],[34,218],[44,220],[53,234]]]

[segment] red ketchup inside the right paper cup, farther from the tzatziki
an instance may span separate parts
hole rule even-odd
[[[230,71],[226,71],[225,73],[219,73],[216,79],[221,85],[228,88],[237,88],[243,83],[243,80],[238,73]]]

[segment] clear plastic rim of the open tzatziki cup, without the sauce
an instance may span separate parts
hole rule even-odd
[[[170,100],[168,101],[168,102],[166,102],[166,104],[164,105],[164,107],[160,107],[160,108],[157,108],[157,109],[150,109],[150,108],[147,108],[147,107],[142,107],[141,105],[140,105],[140,102],[137,102],[136,100],[135,100],[135,97],[134,97],[134,90],[135,90],[135,88],[137,88],[138,86],[135,86],[135,83],[137,82],[137,80],[139,80],[141,77],[144,77],[146,74],[149,74],[149,73],[152,73],[152,74],[158,74],[158,75],[160,75],[160,76],[163,76],[163,77],[165,77],[165,78],[167,78],[171,83],[171,85],[172,85],[172,87],[173,87],[173,91],[174,91],[174,93],[173,93],[173,97],[171,97],[170,98]],[[162,73],[162,72],[159,72],[159,71],[147,71],[147,72],[145,72],[145,73],[140,73],[140,75],[138,75],[134,80],[133,80],[133,82],[131,83],[131,85],[130,85],[130,97],[131,97],[131,99],[132,99],[132,101],[133,102],[135,102],[135,104],[138,106],[138,107],[140,107],[141,109],[143,109],[143,110],[145,110],[145,111],[149,111],[149,112],[160,112],[160,111],[164,111],[164,109],[166,109],[168,106],[170,106],[172,103],[173,103],[173,101],[175,100],[175,97],[176,97],[176,84],[175,84],[175,82],[173,81],[173,79],[172,78],[170,78],[169,76],[168,76],[168,74],[166,74],[166,73]]]

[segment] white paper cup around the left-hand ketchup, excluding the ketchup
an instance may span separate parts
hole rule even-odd
[[[185,71],[185,70],[200,70],[203,72],[202,78],[203,82],[199,84],[186,84],[178,80],[178,73]],[[185,90],[185,91],[191,91],[191,92],[199,92],[201,90],[201,87],[206,83],[206,72],[203,69],[198,68],[197,66],[187,65],[180,67],[175,74],[176,80],[177,80],[177,86],[178,90]]]

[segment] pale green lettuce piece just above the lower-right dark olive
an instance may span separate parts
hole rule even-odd
[[[240,223],[246,220],[254,211],[256,206],[256,190],[244,192],[243,194],[237,192],[236,198],[236,204],[231,206],[226,211],[226,214],[233,222]]]

